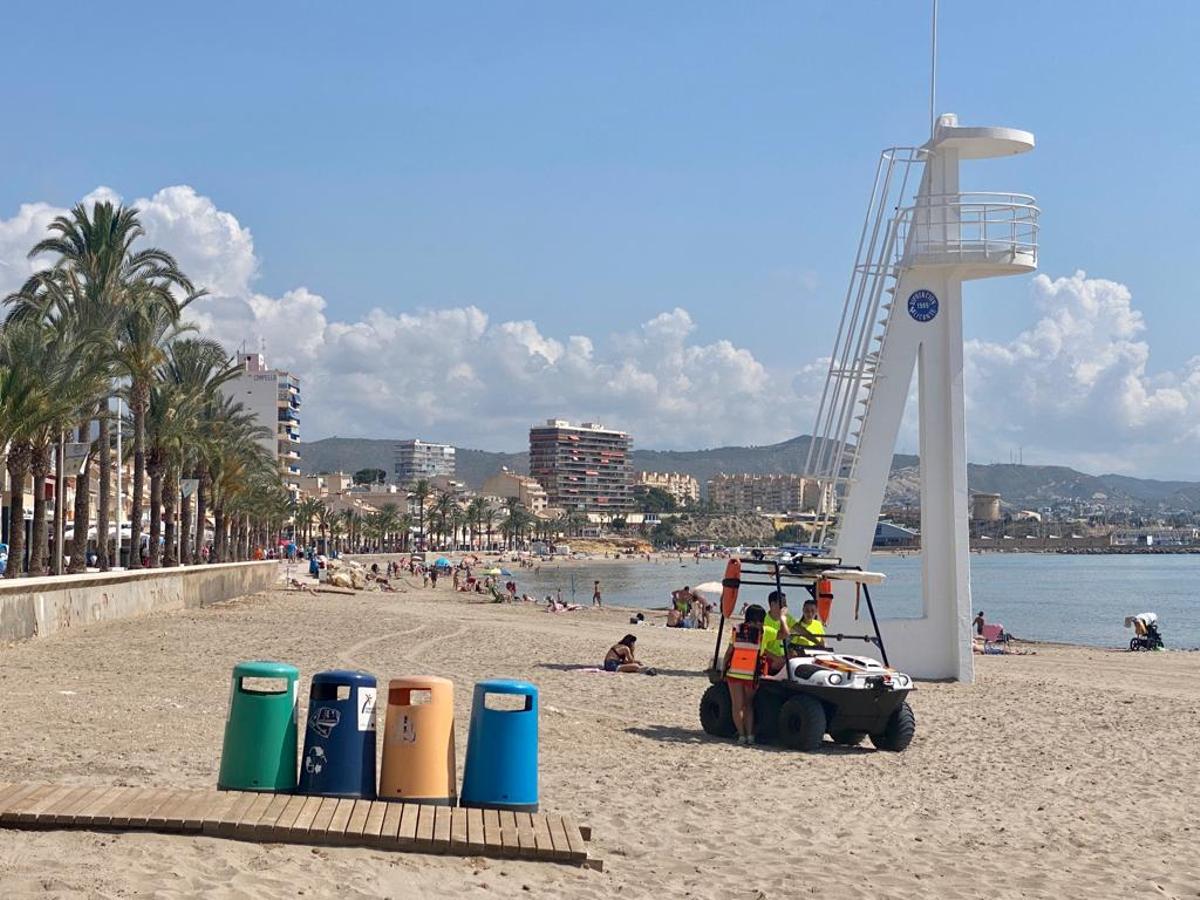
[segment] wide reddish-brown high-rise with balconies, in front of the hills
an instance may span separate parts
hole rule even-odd
[[[529,430],[529,474],[546,488],[551,506],[623,514],[634,509],[632,440],[623,431],[550,419]]]

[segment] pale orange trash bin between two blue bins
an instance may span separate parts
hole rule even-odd
[[[454,682],[408,676],[388,683],[379,799],[454,806]]]

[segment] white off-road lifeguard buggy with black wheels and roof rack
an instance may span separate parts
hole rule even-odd
[[[726,566],[721,595],[721,623],[716,649],[708,671],[712,683],[700,702],[700,721],[714,737],[737,734],[732,700],[720,665],[725,620],[733,616],[744,587],[763,588],[763,606],[770,590],[786,593],[799,589],[818,601],[818,617],[824,620],[832,604],[832,582],[854,584],[854,620],[865,600],[871,634],[826,634],[824,647],[785,642],[785,662],[774,673],[760,670],[755,691],[755,738],[792,750],[816,750],[828,734],[835,743],[854,746],[864,739],[880,750],[902,751],[912,743],[917,721],[908,706],[912,678],[888,665],[871,602],[871,584],[882,584],[884,576],[840,559],[814,552],[780,553],[768,557],[756,552],[750,558],[731,559]],[[746,599],[742,596],[740,599]],[[878,648],[882,662],[869,655],[842,653],[828,644],[860,641]],[[764,668],[764,667],[763,667]]]

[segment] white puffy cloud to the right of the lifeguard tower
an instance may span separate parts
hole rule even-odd
[[[1078,271],[1033,280],[1040,318],[1007,343],[968,341],[972,458],[1061,462],[1086,472],[1190,476],[1200,358],[1151,374],[1133,295]]]

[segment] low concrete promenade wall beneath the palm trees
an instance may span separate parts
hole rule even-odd
[[[278,572],[277,562],[256,562],[0,580],[0,641],[232,600],[265,590]]]

